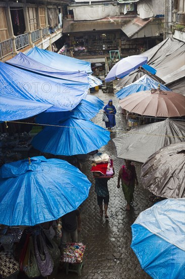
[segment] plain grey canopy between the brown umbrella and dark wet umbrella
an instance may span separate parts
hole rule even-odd
[[[184,141],[185,122],[170,119],[138,126],[113,139],[118,158],[142,163],[160,148]]]

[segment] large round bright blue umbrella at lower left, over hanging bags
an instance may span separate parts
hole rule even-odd
[[[59,159],[32,157],[0,169],[0,224],[34,226],[57,220],[88,197],[91,183]]]

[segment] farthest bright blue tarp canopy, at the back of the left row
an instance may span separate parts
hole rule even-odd
[[[90,62],[61,55],[52,51],[34,47],[28,53],[26,53],[26,55],[46,66],[55,69],[62,68],[63,71],[66,72],[85,71],[87,74],[92,73]]]

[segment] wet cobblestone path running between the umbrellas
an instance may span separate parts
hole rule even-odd
[[[111,98],[113,104],[118,109],[118,99],[113,93],[103,93],[101,90],[94,93],[105,104]],[[94,123],[105,127],[102,122],[102,111],[92,119]],[[113,128],[111,138],[114,138],[121,129],[125,129],[125,121],[120,114],[116,115],[116,127]],[[111,140],[107,146],[102,147],[100,152],[111,154],[114,160],[115,177],[108,182],[110,202],[108,207],[109,219],[101,217],[95,193],[95,181],[90,173],[90,161],[83,164],[83,173],[92,183],[89,197],[81,204],[80,212],[82,219],[81,233],[78,240],[86,245],[84,254],[84,267],[80,279],[148,279],[151,278],[142,270],[134,252],[130,248],[131,244],[131,224],[137,216],[152,203],[148,201],[149,192],[144,190],[140,181],[141,164],[135,163],[139,185],[134,192],[134,206],[130,212],[125,211],[126,201],[122,189],[117,189],[117,177],[122,159],[116,158],[116,149]],[[77,274],[70,272],[66,275],[64,270],[60,271],[55,278],[71,279],[76,278]]]

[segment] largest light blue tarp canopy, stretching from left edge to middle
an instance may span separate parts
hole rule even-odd
[[[54,104],[63,111],[74,109],[86,97],[89,84],[37,75],[1,62],[2,93],[13,97]]]

